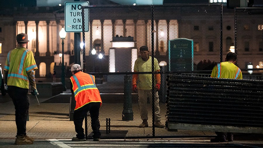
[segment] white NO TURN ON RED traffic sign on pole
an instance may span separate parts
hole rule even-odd
[[[65,31],[82,32],[82,6],[89,6],[88,1],[65,2]],[[89,13],[85,13],[89,15]],[[85,16],[89,18],[89,16]],[[87,23],[88,25],[89,23]],[[85,32],[89,31],[89,26],[85,26]]]

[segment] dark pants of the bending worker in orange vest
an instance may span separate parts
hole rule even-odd
[[[101,102],[90,102],[81,108],[74,111],[73,114],[73,121],[75,125],[75,131],[77,132],[77,138],[84,139],[84,129],[82,128],[83,120],[89,111],[90,118],[91,118],[91,128],[93,130],[93,138],[100,138],[101,132],[100,132],[100,122],[98,120],[99,116],[99,110],[101,107]]]

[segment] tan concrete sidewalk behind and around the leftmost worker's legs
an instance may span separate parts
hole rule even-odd
[[[68,92],[69,90],[66,91],[66,93]],[[8,94],[1,96],[0,99],[0,137],[15,137],[15,108],[12,99]],[[30,95],[27,134],[38,138],[72,138],[75,136],[74,123],[68,118],[69,104],[41,103],[49,98],[38,99],[39,106],[37,106],[36,97]]]

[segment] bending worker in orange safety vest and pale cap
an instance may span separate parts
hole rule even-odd
[[[99,110],[102,104],[100,92],[95,85],[94,75],[89,75],[82,72],[79,64],[74,64],[71,67],[73,76],[71,80],[71,92],[75,95],[76,107],[73,114],[73,121],[77,137],[73,137],[72,141],[86,141],[84,129],[82,128],[83,120],[89,111],[91,118],[91,128],[93,130],[93,140],[99,141],[100,122],[98,119]]]

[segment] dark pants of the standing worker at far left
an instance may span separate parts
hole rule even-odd
[[[15,123],[17,135],[26,135],[27,115],[29,113],[28,89],[8,86],[8,94],[15,105]]]

